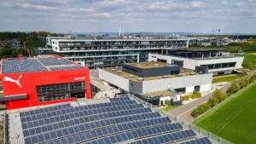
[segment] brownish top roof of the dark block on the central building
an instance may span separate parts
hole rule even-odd
[[[158,62],[158,61],[126,63],[125,65],[134,66],[137,68],[159,68],[159,67],[172,66],[171,64]]]

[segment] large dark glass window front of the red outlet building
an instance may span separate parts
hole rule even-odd
[[[38,101],[55,101],[71,97],[85,97],[85,82],[38,85]]]

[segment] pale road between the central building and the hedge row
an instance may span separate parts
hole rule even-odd
[[[247,78],[253,76],[253,74],[254,73],[251,73],[251,74],[247,75]],[[230,84],[231,83],[224,84],[224,87],[221,88],[221,90],[225,92],[230,87]],[[212,97],[212,94],[213,94],[213,92],[209,93],[208,95],[205,95],[205,96],[201,97],[200,99],[198,99],[196,101],[190,102],[187,105],[183,105],[181,107],[177,107],[175,109],[172,109],[170,112],[171,112],[172,115],[176,116],[179,119],[183,119],[185,121],[191,122],[194,119],[191,116],[191,112],[193,111],[193,109],[195,107],[198,107],[202,103],[207,102],[209,100],[209,98]]]

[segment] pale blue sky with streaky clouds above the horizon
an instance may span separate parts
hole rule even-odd
[[[256,0],[0,0],[0,32],[256,32]]]

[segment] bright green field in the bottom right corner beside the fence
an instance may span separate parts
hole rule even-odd
[[[256,84],[195,124],[233,143],[256,141]]]

